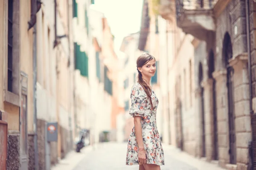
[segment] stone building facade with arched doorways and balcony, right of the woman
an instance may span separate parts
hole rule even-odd
[[[157,14],[174,31],[174,56],[168,55],[173,60],[170,143],[227,169],[250,169],[255,166],[255,2],[163,0],[158,5]]]

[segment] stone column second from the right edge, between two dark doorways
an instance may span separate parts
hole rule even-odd
[[[227,70],[225,68],[214,71],[216,80],[216,112],[218,129],[218,154],[219,164],[225,167],[229,162],[229,127],[228,127],[228,97],[227,97]]]

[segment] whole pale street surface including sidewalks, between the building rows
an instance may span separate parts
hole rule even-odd
[[[52,170],[138,170],[138,165],[125,165],[126,146],[125,143],[104,143],[87,147],[81,153],[70,153]],[[163,145],[163,149],[166,165],[161,166],[161,170],[223,170],[172,146]]]

